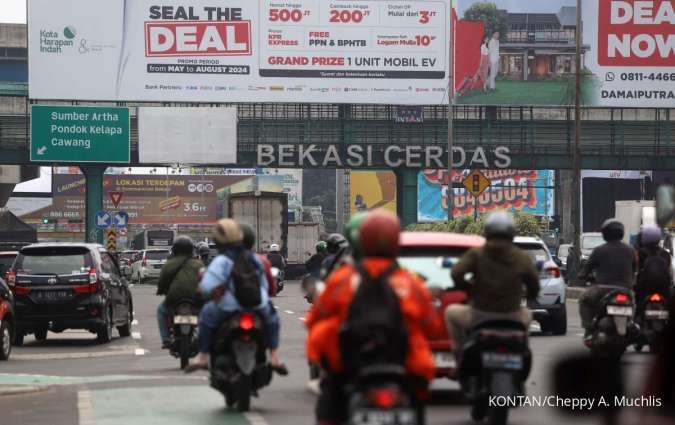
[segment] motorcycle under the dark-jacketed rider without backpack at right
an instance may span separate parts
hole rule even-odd
[[[621,356],[639,333],[633,323],[633,296],[616,287],[601,300],[591,323],[590,337],[584,343],[591,353]]]

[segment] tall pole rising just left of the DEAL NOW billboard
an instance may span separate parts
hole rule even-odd
[[[574,96],[574,150],[572,166],[574,175],[572,178],[572,219],[574,223],[574,255],[577,264],[581,263],[581,38],[583,34],[581,22],[582,0],[577,0],[577,28],[576,28],[576,90]]]

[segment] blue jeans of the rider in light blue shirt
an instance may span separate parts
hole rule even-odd
[[[199,313],[199,352],[210,353],[213,347],[213,337],[218,330],[221,323],[231,316],[233,311],[224,311],[218,308],[218,305],[213,301],[209,301],[204,305],[202,311]],[[264,308],[256,310],[260,315],[265,326],[265,339],[267,347],[271,350],[279,348],[279,333],[281,331],[281,321],[279,314],[272,305],[267,304]]]

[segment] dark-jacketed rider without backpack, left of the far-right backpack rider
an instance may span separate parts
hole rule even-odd
[[[590,326],[602,298],[616,287],[630,291],[637,271],[635,251],[622,242],[623,224],[610,218],[602,224],[600,230],[605,243],[593,250],[579,272],[579,279],[582,281],[592,280],[592,274],[595,274],[593,284],[579,299],[579,315],[585,330],[584,338],[590,335]]]

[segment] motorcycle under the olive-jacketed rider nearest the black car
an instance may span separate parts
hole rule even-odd
[[[180,359],[180,368],[185,369],[190,359],[199,351],[197,340],[197,325],[199,306],[194,301],[184,300],[178,303],[176,312],[172,318],[171,348],[172,356]]]

